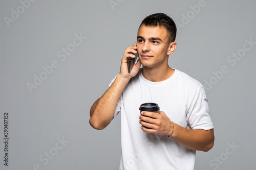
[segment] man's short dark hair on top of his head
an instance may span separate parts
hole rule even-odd
[[[175,41],[176,32],[177,32],[176,24],[172,18],[170,18],[168,15],[164,13],[156,13],[156,14],[152,14],[150,16],[145,17],[140,24],[140,27],[141,26],[164,27],[168,33],[169,42]]]

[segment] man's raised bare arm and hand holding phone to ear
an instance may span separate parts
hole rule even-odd
[[[114,117],[116,106],[118,100],[126,87],[130,79],[137,75],[140,69],[140,61],[137,63],[131,70],[131,73],[128,73],[127,61],[129,57],[135,58],[132,53],[137,53],[136,43],[132,46],[129,46],[125,49],[123,58],[121,61],[121,68],[119,75],[116,77],[113,84],[109,87],[108,90],[93,104],[90,110],[90,125],[98,130],[104,129],[108,126],[111,120]]]

